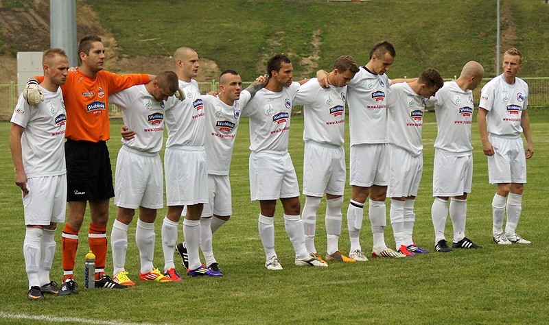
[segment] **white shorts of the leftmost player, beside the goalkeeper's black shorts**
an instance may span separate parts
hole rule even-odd
[[[65,222],[67,174],[27,179],[29,193],[23,197],[25,225],[47,226]]]

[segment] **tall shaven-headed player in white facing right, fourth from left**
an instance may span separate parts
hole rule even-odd
[[[198,74],[198,54],[189,47],[180,47],[174,53],[174,64],[179,86],[185,93],[184,101],[174,97],[165,106],[167,141],[164,154],[166,176],[167,215],[162,224],[162,248],[164,272],[177,279],[174,252],[177,243],[177,226],[183,207],[187,214],[183,221],[183,236],[188,252],[189,276],[222,276],[202,266],[200,246],[200,216],[208,202],[208,175],[204,148],[205,112],[198,83],[193,78]]]

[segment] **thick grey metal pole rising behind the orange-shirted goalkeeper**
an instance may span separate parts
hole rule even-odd
[[[51,47],[63,49],[69,56],[69,65],[78,65],[76,55],[76,2],[75,0],[49,1],[49,41]]]

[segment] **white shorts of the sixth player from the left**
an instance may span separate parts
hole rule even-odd
[[[299,197],[296,170],[288,152],[250,154],[252,201]]]

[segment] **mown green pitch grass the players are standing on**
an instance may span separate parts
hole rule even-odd
[[[545,323],[549,302],[546,276],[549,267],[547,234],[549,167],[549,113],[531,110],[535,155],[528,160],[528,184],[524,191],[519,233],[532,245],[501,247],[491,243],[491,199],[495,187],[487,182],[487,163],[482,154],[477,125],[474,123],[474,185],[468,200],[467,237],[484,245],[476,251],[454,250],[441,254],[402,260],[371,259],[367,263],[336,264],[327,269],[296,268],[293,250],[283,227],[281,206],[275,217],[276,249],[284,267],[281,272],[264,268],[264,252],[257,234],[259,204],[250,202],[248,187],[248,121],[242,121],[233,154],[233,218],[215,233],[215,256],[225,271],[223,278],[187,278],[183,283],[141,283],[122,291],[89,292],[80,287],[78,296],[51,297],[45,302],[26,300],[27,278],[21,252],[25,226],[19,191],[13,182],[8,142],[0,143],[0,313],[81,317],[93,320],[147,323],[400,323],[449,324]],[[303,176],[303,119],[294,117],[290,133],[290,154],[298,173]],[[117,132],[121,120],[113,120],[113,139],[108,141],[113,164],[120,143]],[[9,123],[0,123],[0,134],[8,139]],[[433,248],[434,234],[430,219],[432,204],[432,144],[436,136],[434,114],[425,115],[423,127],[424,172],[415,213],[414,239],[425,248]],[[347,143],[348,134],[347,134]],[[347,145],[346,145],[347,146]],[[348,149],[348,147],[346,148]],[[113,168],[114,170],[114,168]],[[343,210],[350,197],[345,193]],[[302,197],[303,199],[303,197]],[[303,203],[303,200],[302,200]],[[387,204],[388,208],[388,204]],[[326,234],[320,206],[316,247],[325,252]],[[367,210],[367,209],[366,209]],[[163,266],[161,219],[156,221],[155,265]],[[115,216],[110,208],[108,234]],[[362,248],[369,252],[372,239],[369,222],[364,218]],[[89,222],[86,215],[84,224]],[[346,221],[342,227],[340,248],[348,250]],[[56,241],[60,242],[60,228]],[[83,227],[86,229],[86,226]],[[126,267],[137,280],[139,257],[135,245],[135,221],[128,232]],[[447,238],[452,226],[447,224]],[[179,231],[179,239],[183,234]],[[393,243],[390,226],[386,240]],[[76,280],[83,286],[84,254],[88,250],[86,231],[80,233],[75,268]],[[62,278],[61,250],[58,250],[52,279]],[[179,261],[178,256],[176,260]],[[110,245],[106,272],[112,272]],[[182,271],[182,268],[178,268]],[[100,306],[100,307],[98,307]],[[28,320],[1,318],[0,322],[27,323]],[[38,322],[40,323],[40,322]],[[46,322],[43,321],[43,324]]]

